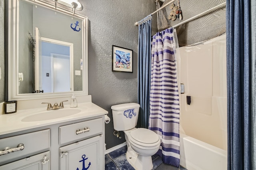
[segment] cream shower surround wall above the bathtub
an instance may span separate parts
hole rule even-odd
[[[226,150],[226,36],[181,47],[180,63],[185,87],[180,96],[181,124],[186,135]]]

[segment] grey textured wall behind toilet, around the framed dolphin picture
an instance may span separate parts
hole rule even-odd
[[[137,102],[138,27],[136,21],[156,10],[155,0],[80,1],[88,17],[88,93],[92,102],[106,109],[111,122],[105,124],[107,149],[122,139],[113,135],[112,111],[116,104]],[[154,30],[156,21],[153,22]],[[112,45],[133,50],[133,73],[112,72]]]

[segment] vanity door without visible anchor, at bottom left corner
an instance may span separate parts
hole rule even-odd
[[[50,151],[0,166],[0,170],[50,170]]]

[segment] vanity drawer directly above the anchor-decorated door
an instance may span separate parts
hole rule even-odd
[[[87,139],[96,135],[101,135],[103,133],[103,125],[103,119],[98,118],[80,123],[60,126],[60,145],[71,141],[79,141],[80,139]],[[77,132],[78,129],[80,129],[79,132]]]

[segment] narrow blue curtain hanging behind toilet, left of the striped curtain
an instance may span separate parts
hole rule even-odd
[[[151,19],[149,15],[138,22],[138,104],[140,112],[137,127],[148,128],[151,69]]]

